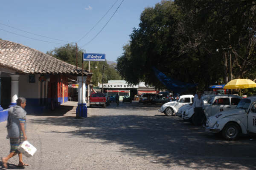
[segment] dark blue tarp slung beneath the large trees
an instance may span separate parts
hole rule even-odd
[[[173,92],[185,92],[187,89],[194,88],[198,84],[189,84],[184,83],[182,81],[175,80],[173,78],[167,77],[165,74],[160,72],[158,69],[153,67],[155,75],[157,76],[158,80],[163,83],[167,87],[167,89],[172,90]]]

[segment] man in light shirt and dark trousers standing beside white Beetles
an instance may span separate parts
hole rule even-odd
[[[204,100],[200,91],[198,91],[197,97],[194,98],[192,107],[194,108],[193,122],[195,126],[201,126],[204,123]]]

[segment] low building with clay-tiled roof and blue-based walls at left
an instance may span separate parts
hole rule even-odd
[[[20,96],[26,98],[27,112],[55,109],[68,101],[68,81],[81,74],[82,69],[72,64],[28,46],[0,40],[0,122],[6,120],[7,109]],[[85,80],[91,73],[84,70],[83,74]]]

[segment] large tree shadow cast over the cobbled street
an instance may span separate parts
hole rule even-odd
[[[179,118],[176,116],[92,116],[82,120],[79,132],[66,133],[121,144],[124,149],[120,152],[134,156],[150,155],[166,166],[175,164],[195,169],[255,168],[255,136],[224,141],[213,134],[204,133],[203,127],[194,127],[189,122],[177,120]],[[52,117],[32,119],[29,123],[73,126],[78,122],[73,118]]]

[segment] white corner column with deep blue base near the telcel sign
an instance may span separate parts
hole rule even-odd
[[[78,76],[78,106],[76,107],[76,117],[84,117],[87,118],[87,105],[86,105],[86,86],[85,86],[85,81],[86,81],[86,76],[83,77],[83,82],[82,82],[82,76]],[[82,86],[83,86],[83,92],[82,92]],[[83,96],[83,97],[82,97]],[[83,101],[82,101],[83,98]],[[83,110],[83,112],[82,112]]]

